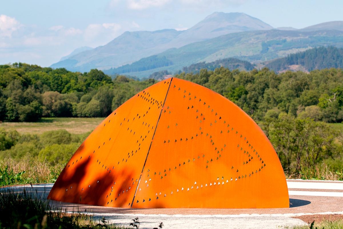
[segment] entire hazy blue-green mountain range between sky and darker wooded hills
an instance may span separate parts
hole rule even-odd
[[[232,57],[258,63],[312,47],[342,47],[343,22],[340,21],[300,30],[271,29],[270,25],[244,13],[215,12],[185,31],[125,32],[104,46],[83,51],[51,67],[81,72],[98,68],[108,74],[146,77],[154,71],[175,71],[203,61]],[[152,58],[154,55],[157,56]],[[142,58],[155,63],[143,66],[146,61],[141,61]],[[163,58],[167,61],[161,62]]]

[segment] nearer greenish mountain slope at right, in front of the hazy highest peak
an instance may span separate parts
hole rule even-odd
[[[180,48],[166,50],[155,58],[166,58],[173,63],[172,65],[130,72],[127,75],[140,78],[147,77],[156,71],[168,70],[169,72],[175,72],[191,64],[203,61],[212,62],[229,57],[259,63],[320,46],[343,47],[343,31],[260,30],[230,33]],[[115,71],[111,72],[110,70],[105,72],[107,74],[115,73]]]

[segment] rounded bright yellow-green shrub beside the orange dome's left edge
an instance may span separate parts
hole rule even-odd
[[[50,164],[66,163],[69,161],[74,152],[79,148],[78,143],[71,144],[54,144],[45,147],[39,152],[39,159],[47,160]]]

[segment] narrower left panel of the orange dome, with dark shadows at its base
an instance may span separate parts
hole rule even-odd
[[[152,85],[110,114],[74,153],[48,199],[130,207],[170,80]]]

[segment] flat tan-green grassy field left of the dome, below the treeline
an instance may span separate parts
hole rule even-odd
[[[66,129],[72,134],[94,130],[105,118],[41,118],[38,122],[3,122],[0,128],[16,129],[19,133],[43,134],[44,131]]]

